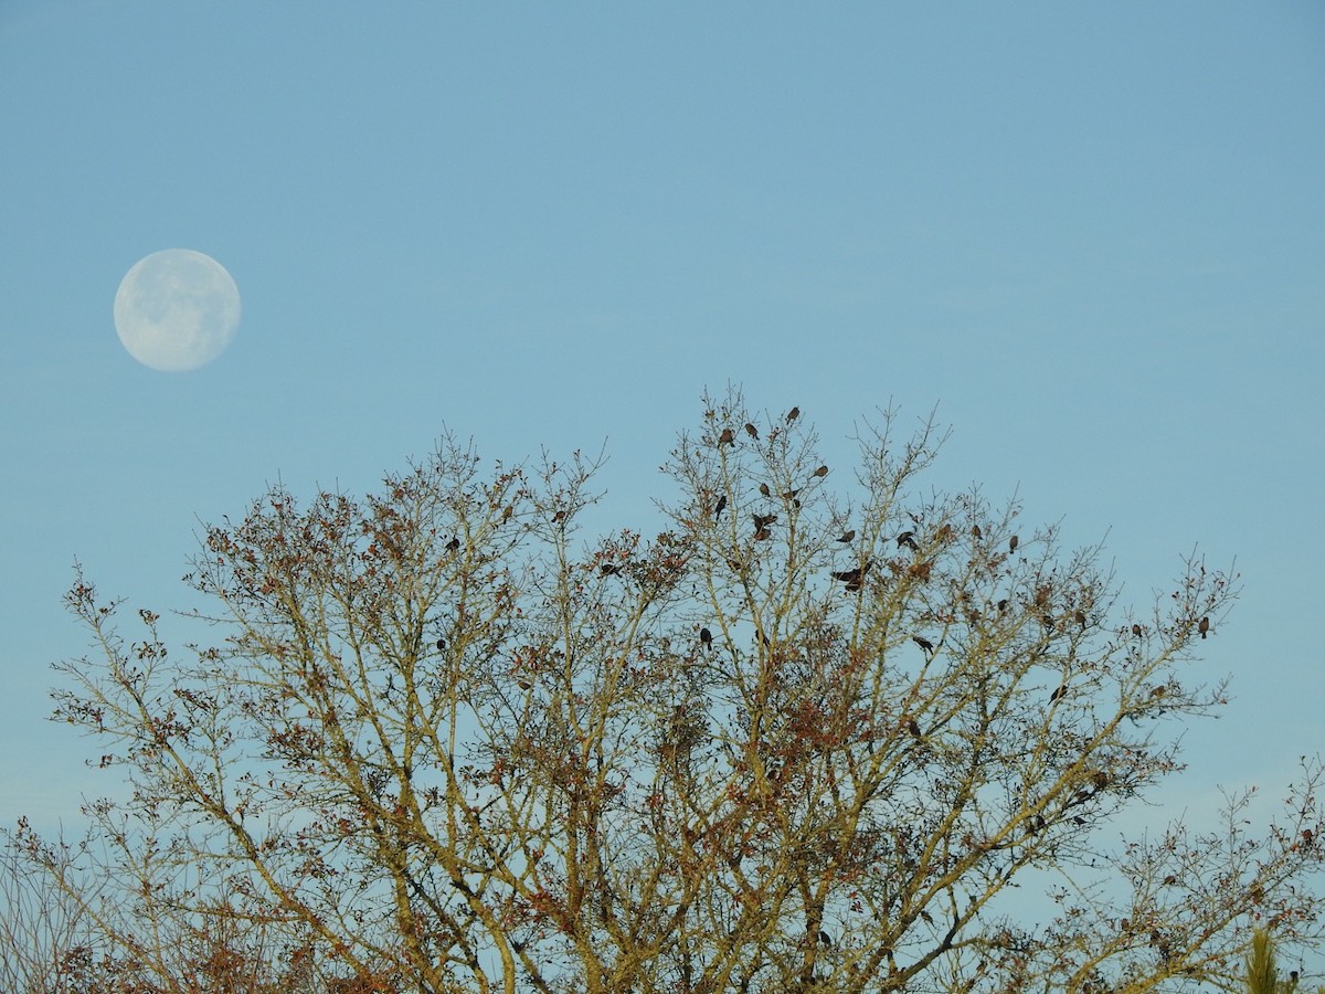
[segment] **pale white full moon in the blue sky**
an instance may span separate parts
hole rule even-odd
[[[240,290],[225,266],[192,249],[154,252],[125,273],[115,293],[115,331],[143,366],[186,372],[205,366],[235,338]]]

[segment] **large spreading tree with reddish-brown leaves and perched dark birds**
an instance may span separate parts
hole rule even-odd
[[[1194,651],[1232,579],[1192,559],[1133,614],[1100,549],[921,490],[938,441],[888,414],[828,467],[799,408],[706,399],[651,539],[578,538],[579,456],[276,488],[207,530],[220,637],[183,659],[80,577],[57,717],[132,798],[68,860],[99,900],[61,887],[163,990],[189,936],[280,961],[253,985],[506,994],[1234,987],[1249,924],[1314,941],[1318,763],[1264,835],[1244,795],[1098,831],[1224,704]]]

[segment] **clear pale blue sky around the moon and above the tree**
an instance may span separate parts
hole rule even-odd
[[[111,305],[191,248],[244,318],[163,374]],[[611,463],[648,526],[700,394],[935,404],[931,481],[1108,533],[1140,604],[1199,543],[1236,700],[1167,799],[1321,747],[1325,5],[0,3],[0,823],[111,777],[42,720],[61,594],[164,611],[199,521],[352,493],[448,425]],[[131,614],[131,612],[130,612]]]

